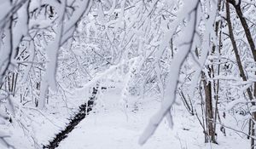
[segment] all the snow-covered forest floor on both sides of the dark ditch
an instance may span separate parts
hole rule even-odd
[[[245,136],[226,129],[226,136],[218,131],[218,145],[204,143],[200,123],[195,116],[183,108],[183,105],[172,109],[174,127],[170,129],[166,120],[156,130],[144,146],[138,145],[149,118],[160,108],[157,95],[145,96],[142,99],[128,96],[128,108],[120,106],[121,86],[102,91],[96,100],[96,106],[79,125],[62,140],[58,149],[249,149],[249,140]],[[88,99],[87,92],[77,92],[67,102],[56,97],[51,106],[44,112],[27,107],[27,119],[20,119],[26,125],[11,129],[7,138],[17,149],[41,149],[47,145],[55,134],[64,129],[68,118],[78,110],[79,105]],[[83,94],[83,95],[82,95]],[[68,108],[67,108],[68,106]],[[228,121],[228,120],[227,120]],[[225,124],[236,127],[236,119]],[[19,123],[13,123],[18,125]],[[11,128],[11,127],[9,127]],[[2,128],[4,129],[4,128]],[[8,129],[8,128],[7,128]],[[29,136],[29,137],[28,137]],[[13,141],[15,140],[15,141]],[[36,146],[37,145],[37,146]],[[0,149],[5,149],[1,146]]]

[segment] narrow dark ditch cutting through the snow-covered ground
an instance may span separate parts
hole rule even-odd
[[[59,146],[60,142],[67,138],[67,135],[73,131],[75,126],[77,126],[86,115],[89,114],[89,112],[92,110],[92,106],[94,106],[94,101],[96,100],[96,94],[98,92],[98,86],[93,88],[92,94],[90,96],[90,100],[88,100],[83,105],[79,106],[79,112],[70,120],[70,122],[67,124],[66,128],[63,129],[60,133],[55,135],[55,138],[53,140],[49,140],[49,144],[46,146],[43,146],[43,148],[48,149],[55,149]]]

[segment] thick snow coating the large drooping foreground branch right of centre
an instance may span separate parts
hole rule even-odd
[[[173,23],[175,26],[174,29],[170,30],[166,33],[166,36],[163,39],[163,42],[160,44],[159,53],[157,55],[156,60],[160,59],[161,54],[166,49],[167,43],[170,41],[171,37],[173,36],[177,26],[181,23],[182,20],[184,20],[190,13],[191,10],[195,9],[197,6],[197,2],[193,3],[194,7],[191,7],[191,3],[184,3],[182,11],[177,15],[177,20]],[[193,11],[192,11],[193,12]],[[194,12],[196,14],[196,12]],[[188,26],[186,26],[185,31],[194,31],[194,28],[196,27],[196,20],[195,15],[192,15],[191,17],[192,23],[190,22]],[[194,24],[195,22],[195,24]],[[189,35],[182,36],[185,37],[183,39],[183,45],[180,46],[180,49],[174,58],[172,60],[172,64],[169,67],[168,70],[172,70],[172,73],[169,73],[166,80],[166,92],[163,99],[163,102],[161,104],[161,107],[158,112],[155,113],[155,115],[151,118],[150,122],[148,123],[148,126],[143,132],[143,135],[141,136],[139,142],[140,144],[144,144],[148,138],[154,134],[155,129],[157,129],[158,125],[162,121],[163,117],[167,117],[167,120],[169,121],[169,125],[172,126],[172,113],[170,113],[170,109],[172,105],[174,104],[176,100],[176,89],[177,89],[177,82],[178,82],[178,76],[181,66],[183,65],[183,61],[186,59],[187,55],[189,54],[189,50],[192,47],[189,43],[194,39],[194,32],[189,32]],[[192,43],[191,43],[192,44]]]

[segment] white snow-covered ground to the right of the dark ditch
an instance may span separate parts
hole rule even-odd
[[[195,117],[189,117],[186,112],[175,109],[175,126],[169,129],[165,122],[144,145],[139,146],[137,140],[142,134],[148,118],[154,114],[159,102],[150,99],[144,102],[138,112],[131,112],[127,116],[116,104],[119,94],[103,95],[98,101],[96,112],[91,112],[66,140],[61,141],[58,149],[241,149],[247,148],[247,140],[236,142],[236,138],[224,137],[220,146],[204,144],[202,130]],[[189,130],[188,130],[189,129]],[[234,134],[233,134],[234,135]],[[236,135],[238,136],[238,135]],[[221,137],[223,136],[219,136]],[[224,143],[228,142],[228,143]],[[234,143],[236,146],[234,146]]]

